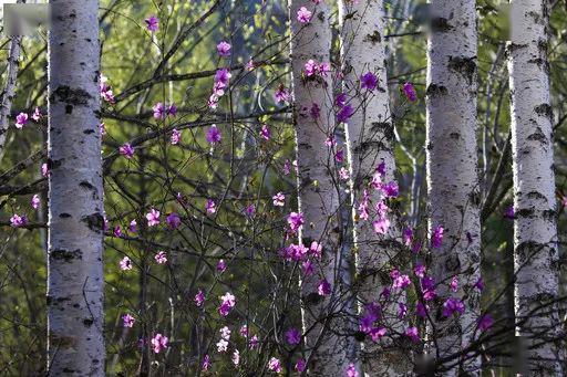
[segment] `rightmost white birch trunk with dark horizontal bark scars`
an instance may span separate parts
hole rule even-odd
[[[546,0],[512,1],[509,86],[514,169],[516,334],[530,376],[561,376],[558,250]]]

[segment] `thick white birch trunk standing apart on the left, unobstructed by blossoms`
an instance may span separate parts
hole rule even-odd
[[[99,1],[50,3],[48,367],[103,376]]]

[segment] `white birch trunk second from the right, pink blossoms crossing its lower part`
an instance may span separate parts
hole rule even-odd
[[[430,234],[444,228],[441,248],[432,248],[437,295],[463,300],[464,314],[449,317],[443,305],[432,313],[436,356],[458,353],[477,334],[481,223],[476,144],[476,11],[474,0],[431,0],[427,43],[426,165]],[[456,277],[458,290],[449,284]],[[454,362],[453,362],[454,364]],[[451,364],[445,365],[445,367]],[[458,370],[458,369],[465,369]],[[463,355],[446,375],[480,374],[480,358]]]

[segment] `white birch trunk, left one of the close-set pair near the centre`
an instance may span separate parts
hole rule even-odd
[[[300,23],[297,13],[301,7],[312,12],[309,23]],[[297,138],[299,211],[305,224],[299,237],[309,247],[312,241],[322,244],[322,260],[312,274],[301,273],[301,308],[307,347],[311,350],[309,369],[312,376],[339,376],[346,369],[344,336],[340,321],[332,315],[341,312],[342,287],[337,276],[339,259],[338,209],[339,195],[334,182],[334,160],[324,145],[334,133],[331,73],[305,77],[303,67],[309,60],[330,62],[331,28],[330,6],[309,0],[290,0],[291,65],[295,96],[293,119]],[[312,115],[318,106],[319,116]],[[318,294],[318,284],[327,280],[332,293]],[[332,296],[332,299],[331,299]]]

